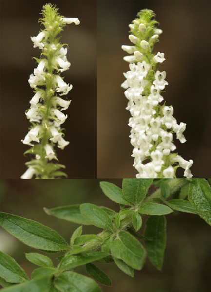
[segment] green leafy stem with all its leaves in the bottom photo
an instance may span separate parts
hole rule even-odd
[[[156,190],[148,194],[149,187]],[[56,253],[58,265],[40,253],[27,253],[26,258],[40,266],[28,279],[24,270],[11,257],[0,252],[0,284],[5,292],[100,292],[92,279],[111,286],[108,275],[96,263],[115,262],[129,276],[140,270],[146,260],[161,270],[166,246],[166,217],[174,210],[198,214],[211,225],[211,187],[205,179],[123,179],[122,189],[109,182],[100,186],[107,197],[119,204],[119,212],[85,203],[53,209],[56,216],[80,226],[68,244],[56,231],[30,219],[0,212],[0,225],[23,243],[45,253]],[[142,218],[146,220],[144,232]],[[82,235],[82,225],[102,229]],[[75,272],[85,265],[87,277]]]

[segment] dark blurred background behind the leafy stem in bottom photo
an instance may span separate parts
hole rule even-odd
[[[109,179],[121,187],[122,180]],[[47,215],[43,207],[94,203],[119,210],[118,205],[103,195],[100,180],[1,180],[1,211],[32,219],[56,230],[67,242],[79,226]],[[150,189],[150,193],[153,189]],[[135,271],[134,278],[121,272],[114,263],[100,265],[111,278],[111,288],[103,292],[209,292],[211,288],[211,229],[199,216],[193,214],[169,214],[167,218],[167,247],[162,272],[157,271],[147,260],[141,271]],[[144,224],[143,224],[144,225]],[[143,228],[140,230],[143,233]],[[38,266],[28,262],[27,252],[36,252],[1,229],[0,250],[16,259],[30,276]],[[98,233],[94,226],[84,226],[83,234]],[[39,252],[39,251],[38,251]],[[49,255],[54,264],[56,254]],[[76,272],[86,274],[84,267]]]

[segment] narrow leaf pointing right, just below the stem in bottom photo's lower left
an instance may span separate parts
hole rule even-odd
[[[62,259],[59,268],[70,269],[73,267],[88,264],[92,261],[95,261],[106,256],[109,256],[109,254],[103,252],[82,252],[76,255],[68,255]]]

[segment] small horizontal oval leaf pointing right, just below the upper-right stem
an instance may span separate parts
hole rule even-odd
[[[147,215],[165,215],[172,213],[173,210],[169,207],[157,203],[143,203],[138,212]]]

